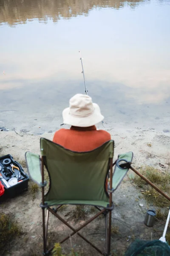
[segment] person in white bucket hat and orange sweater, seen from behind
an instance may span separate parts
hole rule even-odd
[[[63,122],[70,129],[55,132],[53,142],[77,152],[91,151],[111,140],[107,131],[97,130],[96,124],[104,119],[100,108],[88,95],[76,94],[70,99],[69,108],[62,112]]]

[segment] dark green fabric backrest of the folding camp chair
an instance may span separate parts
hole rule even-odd
[[[44,138],[40,147],[50,176],[45,201],[108,201],[105,180],[113,158],[113,140],[88,152],[70,151]]]

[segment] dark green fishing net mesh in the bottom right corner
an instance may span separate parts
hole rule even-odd
[[[170,246],[159,240],[136,240],[127,248],[125,256],[170,256]]]

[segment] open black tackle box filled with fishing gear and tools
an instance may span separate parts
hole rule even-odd
[[[14,196],[28,190],[29,176],[24,172],[22,166],[14,161],[10,154],[0,157],[0,182],[4,192],[2,198],[13,198]]]

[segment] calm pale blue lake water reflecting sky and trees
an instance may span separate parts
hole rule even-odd
[[[170,129],[170,0],[1,0],[0,127],[59,128],[79,50],[106,128]]]

